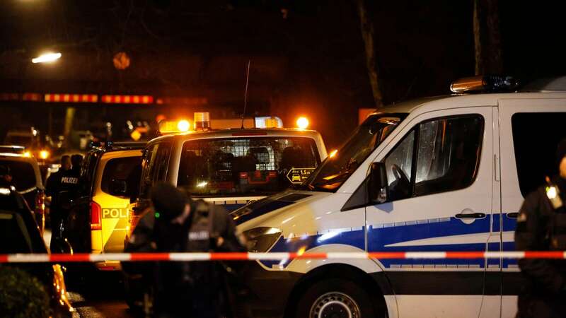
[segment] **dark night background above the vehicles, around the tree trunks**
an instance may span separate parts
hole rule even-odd
[[[455,78],[473,75],[473,1],[368,3],[386,103],[446,94]],[[566,73],[565,12],[554,1],[500,1],[504,73],[523,81]],[[207,100],[161,109],[79,107],[76,126],[158,112],[237,117],[248,59],[249,114],[275,114],[287,124],[306,114],[330,147],[357,125],[359,107],[374,105],[355,1],[3,0],[0,38],[0,93]],[[57,64],[27,62],[49,47],[63,54]],[[112,64],[117,52],[131,58],[124,71]],[[65,106],[52,110],[55,120]],[[41,126],[45,118],[37,104],[23,105],[25,115],[20,104],[0,107],[7,114],[0,135],[15,121]]]

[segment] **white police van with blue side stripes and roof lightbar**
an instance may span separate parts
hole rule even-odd
[[[233,212],[253,252],[512,251],[524,197],[557,171],[566,77],[515,93],[465,78],[455,95],[383,107],[301,185]],[[510,259],[255,261],[253,317],[514,317]],[[276,286],[276,287],[275,287]]]

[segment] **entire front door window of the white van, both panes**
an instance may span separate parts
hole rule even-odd
[[[454,191],[472,184],[480,163],[483,126],[480,115],[420,123],[383,160],[388,200]]]

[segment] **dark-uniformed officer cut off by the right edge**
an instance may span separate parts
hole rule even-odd
[[[566,139],[558,144],[559,174],[529,194],[517,217],[518,250],[566,250]],[[519,295],[517,317],[566,317],[566,261],[521,259],[526,285]]]

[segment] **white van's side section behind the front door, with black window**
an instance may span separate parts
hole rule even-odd
[[[565,122],[564,98],[499,100],[501,214],[494,229],[501,232],[502,251],[515,250],[516,218],[525,196],[557,172],[555,151],[566,137]],[[500,264],[502,317],[515,317],[517,295],[525,282],[516,259],[502,259]]]

